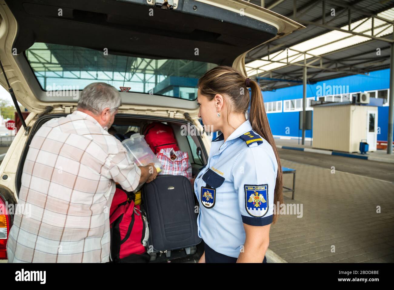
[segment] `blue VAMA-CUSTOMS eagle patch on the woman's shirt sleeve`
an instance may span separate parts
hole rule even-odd
[[[245,208],[252,217],[263,217],[268,211],[268,184],[245,184]]]

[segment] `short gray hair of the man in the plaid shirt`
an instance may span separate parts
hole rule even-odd
[[[92,82],[85,86],[79,95],[78,108],[100,114],[105,108],[111,113],[121,106],[121,96],[118,90],[105,82]]]

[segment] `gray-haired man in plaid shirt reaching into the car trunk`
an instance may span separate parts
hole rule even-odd
[[[109,128],[121,105],[108,84],[89,84],[78,109],[41,126],[30,143],[19,204],[9,232],[9,262],[108,262],[110,205],[115,182],[126,191],[156,178],[154,166],[138,167]]]

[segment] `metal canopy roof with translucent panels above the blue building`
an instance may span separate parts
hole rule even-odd
[[[307,26],[248,53],[248,75],[265,90],[302,84],[305,66],[308,83],[390,67],[393,0],[266,0],[264,7]]]

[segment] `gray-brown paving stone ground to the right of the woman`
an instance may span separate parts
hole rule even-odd
[[[288,160],[282,166],[297,170],[295,199],[284,193],[284,203],[302,204],[303,216],[280,215],[269,249],[289,263],[394,262],[392,182]],[[292,174],[284,184],[292,186]]]

